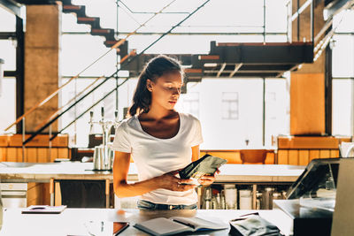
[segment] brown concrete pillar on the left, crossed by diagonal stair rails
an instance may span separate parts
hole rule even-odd
[[[25,33],[25,112],[58,88],[61,8],[58,5],[27,5]],[[34,132],[58,109],[58,96],[26,118],[26,132]],[[57,122],[52,131],[58,131]],[[48,129],[44,132],[48,132]]]

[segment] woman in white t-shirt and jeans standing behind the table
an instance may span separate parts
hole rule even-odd
[[[199,120],[174,110],[183,85],[181,65],[171,57],[152,58],[140,74],[130,118],[116,130],[112,148],[114,193],[141,195],[140,209],[196,209],[195,185],[178,170],[199,158],[203,142]],[[139,181],[127,183],[130,158]],[[210,185],[213,176],[199,179]],[[189,184],[189,185],[185,185]]]

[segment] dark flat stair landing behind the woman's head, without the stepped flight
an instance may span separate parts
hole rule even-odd
[[[143,65],[157,55],[144,54],[122,70],[137,76]],[[185,65],[188,81],[203,77],[212,78],[274,78],[284,72],[296,70],[303,63],[313,62],[312,42],[211,42],[209,54],[168,55],[178,58]]]

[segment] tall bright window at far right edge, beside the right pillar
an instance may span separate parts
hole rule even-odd
[[[332,60],[332,134],[354,134],[354,11],[335,16]],[[339,25],[338,25],[339,24]]]

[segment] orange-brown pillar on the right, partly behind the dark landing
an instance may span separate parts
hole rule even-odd
[[[300,1],[300,6],[306,2]],[[293,0],[293,13],[297,1]],[[300,42],[311,42],[311,5],[300,14]],[[314,35],[324,26],[324,3],[314,11]],[[292,40],[297,41],[297,19],[292,25]],[[325,126],[325,53],[313,64],[304,64],[291,72],[290,80],[290,134],[323,134]]]

